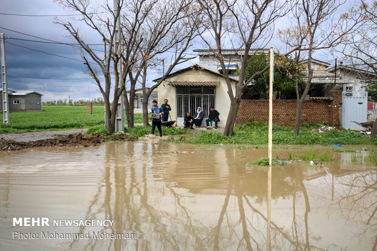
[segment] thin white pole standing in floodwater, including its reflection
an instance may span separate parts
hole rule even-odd
[[[272,93],[274,84],[274,48],[270,48],[270,86],[268,98],[268,177],[267,177],[267,251],[271,250],[271,178],[272,178]]]

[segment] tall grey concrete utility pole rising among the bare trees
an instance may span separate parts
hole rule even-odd
[[[122,84],[122,58],[120,54],[122,53],[122,45],[120,40],[120,0],[114,0],[114,14],[118,15],[115,20],[115,39],[114,39],[114,54],[118,54],[119,61],[118,61],[118,72],[119,72],[119,81],[118,86],[116,87],[119,89]],[[105,117],[106,121],[106,117]],[[115,132],[123,132],[124,131],[124,101],[123,101],[123,93],[120,95],[118,100],[118,106],[116,107],[116,118],[115,118]]]

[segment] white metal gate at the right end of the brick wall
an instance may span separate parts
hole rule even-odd
[[[366,122],[368,113],[368,92],[342,92],[342,127],[363,130],[357,122]]]

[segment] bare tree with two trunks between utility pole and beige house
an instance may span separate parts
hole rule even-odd
[[[195,16],[196,10],[192,6],[193,0],[184,1],[167,1],[154,0],[148,2],[147,8],[141,11],[148,11],[142,23],[139,23],[138,30],[143,41],[138,50],[136,63],[128,70],[130,81],[129,99],[125,96],[125,106],[127,113],[127,124],[133,127],[133,100],[135,96],[135,87],[137,81],[141,81],[143,89],[143,100],[147,101],[152,91],[164,81],[168,75],[179,63],[189,60],[184,57],[184,52],[190,47],[190,42],[196,37],[197,30],[193,23],[189,21],[190,16]],[[125,18],[128,20],[129,18]],[[198,19],[195,20],[199,25]],[[127,39],[133,32],[132,25],[125,22],[123,25],[123,37]],[[169,67],[164,76],[149,89],[146,88],[147,69],[152,65],[158,65],[158,58],[164,55],[172,55]],[[141,79],[140,79],[141,78]],[[143,123],[148,124],[147,102],[143,102]]]

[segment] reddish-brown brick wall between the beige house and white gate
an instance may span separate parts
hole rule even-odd
[[[333,89],[333,100],[311,99],[303,102],[301,124],[322,124],[328,121],[331,126],[342,124],[342,92]],[[272,120],[275,124],[294,126],[296,100],[274,100]],[[268,100],[242,100],[236,124],[247,122],[268,122]]]

